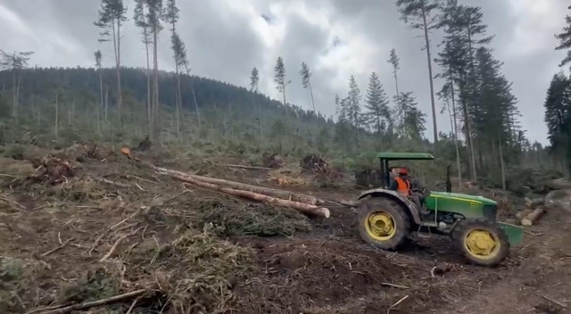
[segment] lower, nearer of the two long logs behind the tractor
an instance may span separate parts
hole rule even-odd
[[[194,178],[192,178],[190,176],[180,176],[180,175],[174,175],[173,174],[173,177],[177,178],[180,181],[190,183],[194,186],[202,186],[202,187],[210,188],[212,190],[223,192],[226,194],[244,197],[244,198],[250,199],[252,201],[269,202],[269,203],[272,203],[272,204],[275,204],[278,206],[293,208],[294,210],[300,211],[306,215],[323,216],[325,218],[329,218],[329,216],[331,215],[329,210],[327,210],[327,208],[319,207],[316,205],[305,204],[302,202],[293,202],[293,201],[288,201],[288,200],[282,200],[282,199],[277,198],[277,197],[272,197],[272,196],[264,195],[264,194],[257,194],[257,193],[253,193],[251,191],[236,190],[236,189],[226,187],[226,186],[216,186],[216,185],[213,185],[211,183],[195,180]]]

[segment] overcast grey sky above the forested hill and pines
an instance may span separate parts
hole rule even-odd
[[[402,91],[412,91],[426,112],[426,137],[432,141],[430,90],[422,39],[399,20],[393,0],[178,0],[179,33],[186,43],[194,74],[243,87],[250,71],[261,71],[261,91],[280,99],[273,81],[278,56],[284,58],[289,79],[287,100],[310,109],[310,95],[302,88],[300,63],[313,72],[316,107],[335,112],[335,93],[346,95],[351,75],[365,94],[368,76],[376,71],[388,95],[394,95],[391,48],[401,58]],[[565,0],[460,0],[480,5],[497,59],[513,82],[522,126],[532,140],[546,143],[543,100],[550,78],[559,68],[562,52],[555,52],[554,33],[564,26]],[[128,5],[132,18],[134,4]],[[36,51],[30,62],[38,66],[94,64],[102,49],[104,63],[112,66],[112,46],[97,42],[93,26],[98,0],[0,0],[0,49]],[[269,22],[262,16],[269,19]],[[131,19],[132,20],[132,19]],[[145,65],[145,46],[132,21],[122,31],[122,63]],[[439,41],[434,39],[434,44]],[[169,35],[161,36],[159,66],[172,70]],[[434,48],[437,49],[437,48]],[[438,68],[436,68],[436,72]],[[436,80],[435,89],[441,82]],[[442,107],[438,103],[438,111]],[[451,129],[448,116],[438,117],[439,130]]]

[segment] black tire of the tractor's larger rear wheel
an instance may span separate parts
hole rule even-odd
[[[372,214],[389,215],[393,222],[393,234],[385,239],[369,233],[372,229],[369,217]],[[361,202],[357,217],[360,237],[377,249],[395,251],[405,244],[410,234],[409,215],[401,204],[386,197],[371,197]]]

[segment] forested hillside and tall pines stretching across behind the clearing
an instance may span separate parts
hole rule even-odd
[[[137,132],[159,139],[170,123],[178,138],[191,136],[193,132],[211,132],[246,141],[272,141],[277,144],[278,153],[301,147],[320,153],[335,150],[352,156],[378,150],[435,150],[456,161],[459,180],[468,175],[472,181],[490,172],[505,177],[506,168],[513,165],[550,164],[536,162],[537,156],[542,155],[542,146],[531,144],[518,125],[517,99],[511,93],[511,83],[501,74],[502,63],[493,57],[489,47],[492,36],[486,34],[481,9],[456,0],[398,0],[396,6],[402,20],[410,29],[420,31],[424,39],[435,146],[424,136],[426,113],[418,109],[413,92],[399,81],[401,65],[395,49],[387,61],[393,69],[393,96],[387,95],[377,72],[370,74],[363,94],[356,79],[351,77],[346,95],[335,95],[335,98],[332,95],[336,107],[333,120],[315,111],[313,86],[319,82],[312,81],[310,65],[306,62],[302,62],[299,75],[302,87],[308,90],[309,111],[287,102],[286,91],[292,80],[286,75],[282,57],[277,57],[273,77],[282,95],[279,102],[260,94],[261,76],[255,67],[250,73],[249,91],[235,90],[228,85],[222,87],[222,83],[192,76],[185,43],[178,35],[179,10],[175,0],[167,0],[165,5],[162,0],[137,0],[131,14],[121,0],[101,0],[94,23],[101,29],[97,40],[112,45],[114,69],[104,69],[102,53],[96,51],[95,70],[28,70],[30,77],[34,77],[28,86],[32,116],[34,120],[42,119],[42,115],[37,114],[38,106],[34,105],[39,103],[34,101],[35,95],[53,93],[40,92],[38,88],[41,88],[36,85],[41,81],[46,86],[56,85],[50,89],[55,95],[50,96],[49,102],[55,102],[55,109],[60,113],[62,103],[66,103],[68,113],[77,110],[75,103],[79,99],[97,104],[86,110],[96,116],[98,132],[112,125],[120,133],[126,123],[128,128],[135,123]],[[140,70],[125,69],[120,63],[121,29],[129,21],[128,16],[132,16],[140,29],[141,42],[145,45],[146,65]],[[175,65],[172,74],[161,71],[157,61],[159,34],[164,26],[170,30]],[[436,57],[430,40],[434,31],[444,34],[443,42],[436,45]],[[18,119],[21,77],[30,54],[3,54],[2,58],[3,68],[9,69],[12,75],[14,120]],[[434,63],[439,67],[436,74]],[[141,71],[145,74],[143,80],[139,75]],[[60,79],[50,82],[49,78],[40,78],[46,75]],[[445,82],[442,90],[435,93],[434,79]],[[451,132],[438,131],[436,97],[442,104],[440,112],[450,116]],[[137,109],[139,103],[145,104],[145,111]],[[169,112],[170,108],[173,112]],[[241,110],[244,108],[247,115]],[[56,117],[59,117],[57,113]],[[141,128],[140,119],[146,120],[145,130]],[[62,120],[55,126],[58,123]],[[505,185],[505,178],[501,181]]]

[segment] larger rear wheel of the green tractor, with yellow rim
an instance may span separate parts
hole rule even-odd
[[[357,226],[360,237],[381,250],[396,250],[410,233],[407,212],[399,203],[385,197],[361,202]]]

